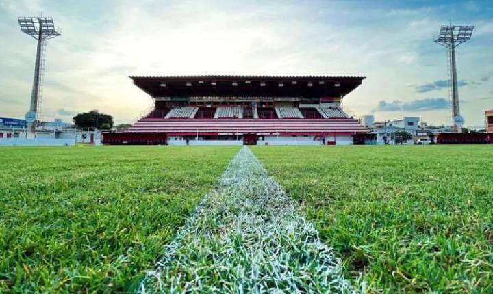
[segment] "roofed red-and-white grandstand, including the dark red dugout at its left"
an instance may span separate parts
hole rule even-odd
[[[125,133],[104,134],[107,144],[121,144],[118,137],[129,144],[353,144],[353,136],[368,132],[341,107],[364,77],[131,79],[153,98],[154,109]],[[129,140],[130,133],[146,139]]]

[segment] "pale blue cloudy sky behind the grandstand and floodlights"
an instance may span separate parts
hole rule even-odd
[[[493,1],[0,0],[0,116],[29,108],[36,42],[17,16],[51,16],[42,120],[97,109],[135,122],[152,99],[129,75],[362,75],[353,116],[451,124],[440,25],[475,25],[457,47],[460,110],[493,109]]]

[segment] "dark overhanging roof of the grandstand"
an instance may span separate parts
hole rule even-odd
[[[156,97],[344,97],[365,77],[353,76],[130,76]]]

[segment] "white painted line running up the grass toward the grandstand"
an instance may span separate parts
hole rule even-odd
[[[356,291],[313,224],[244,147],[138,292]]]

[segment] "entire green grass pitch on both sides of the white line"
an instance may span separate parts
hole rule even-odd
[[[0,293],[134,291],[238,150],[0,148]],[[251,150],[355,285],[493,293],[492,146]]]

